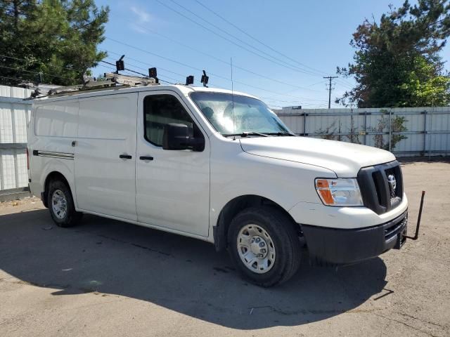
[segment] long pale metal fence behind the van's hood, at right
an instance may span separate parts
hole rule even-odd
[[[392,148],[397,156],[450,154],[450,107],[402,107],[394,109],[291,109],[274,110],[291,131],[304,136],[349,141],[349,134],[359,143],[374,146],[375,134],[383,134],[389,142],[389,120],[404,117],[406,131]],[[385,118],[383,130],[377,130]],[[392,133],[394,134],[394,133]],[[398,134],[398,133],[397,133]]]

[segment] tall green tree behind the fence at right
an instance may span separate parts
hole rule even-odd
[[[449,105],[450,77],[439,52],[450,35],[448,0],[406,0],[390,6],[380,23],[357,27],[350,45],[354,63],[338,74],[354,77],[356,87],[336,100],[358,107]]]

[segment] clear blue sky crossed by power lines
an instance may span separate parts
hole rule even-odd
[[[184,82],[190,74],[199,81],[200,70],[205,69],[210,76],[210,86],[231,88],[229,62],[233,58],[234,90],[257,95],[271,107],[327,107],[328,92],[323,76],[335,75],[336,66],[345,66],[352,61],[354,49],[349,46],[349,41],[356,27],[364,18],[379,21],[388,11],[389,4],[400,6],[403,2],[198,0],[266,44],[264,46],[195,0],[174,1],[185,8],[172,0],[97,0],[98,6],[110,6],[105,34],[108,38],[100,46],[101,50],[108,51],[106,60],[114,63],[119,58],[117,54],[125,54],[125,67],[143,73],[147,73],[150,66],[157,67],[160,79],[170,82]],[[449,59],[449,46],[442,55],[444,60]],[[446,69],[449,69],[448,64]],[[110,71],[101,65],[94,69],[94,74]],[[352,86],[353,81],[338,79],[334,83],[332,106],[337,107],[334,98]]]

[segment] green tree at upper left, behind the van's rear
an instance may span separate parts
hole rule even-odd
[[[0,0],[0,84],[82,83],[106,56],[108,13],[94,0]]]

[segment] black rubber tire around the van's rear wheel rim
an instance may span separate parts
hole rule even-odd
[[[53,207],[53,194],[63,195],[65,198],[65,213],[57,213]],[[49,205],[50,215],[53,221],[59,227],[72,227],[77,225],[81,220],[83,213],[75,211],[73,204],[72,192],[70,187],[61,180],[52,180],[49,184],[49,191],[47,192],[47,202]]]

